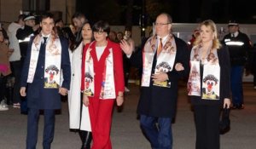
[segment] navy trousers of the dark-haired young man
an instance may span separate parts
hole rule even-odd
[[[28,109],[26,149],[36,149],[38,142],[38,109]],[[50,149],[55,134],[55,110],[44,110],[44,149]]]

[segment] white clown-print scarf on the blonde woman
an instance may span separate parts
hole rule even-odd
[[[203,57],[201,53],[201,46],[197,46],[190,54],[188,95],[201,96],[205,100],[219,100],[220,67],[217,49],[209,49],[207,57]],[[203,65],[202,91],[200,65]]]

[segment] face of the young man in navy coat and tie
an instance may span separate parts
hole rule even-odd
[[[55,26],[55,22],[53,18],[45,18],[40,22],[40,26],[42,27],[42,33],[44,35],[49,35],[53,31],[53,27]]]

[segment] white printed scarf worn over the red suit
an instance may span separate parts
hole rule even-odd
[[[92,43],[90,43],[91,45]],[[107,46],[108,47],[108,46]],[[115,99],[115,86],[113,79],[113,49],[109,50],[110,54],[105,60],[105,66],[102,76],[102,89],[100,93],[100,99]],[[85,54],[85,65],[84,65],[84,95],[94,96],[95,95],[95,82],[94,82],[94,64],[90,55],[91,48],[86,50]]]

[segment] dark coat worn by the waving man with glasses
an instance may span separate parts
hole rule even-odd
[[[151,117],[174,117],[177,105],[177,86],[181,77],[189,75],[189,49],[187,44],[180,38],[175,37],[177,46],[177,54],[174,66],[179,62],[183,64],[184,71],[167,72],[171,88],[163,88],[153,85],[150,80],[149,87],[141,87],[140,100],[137,106],[137,113]],[[143,66],[142,50],[131,54],[131,64],[141,68]],[[151,74],[154,74],[156,66],[156,54],[154,54],[153,66]]]

